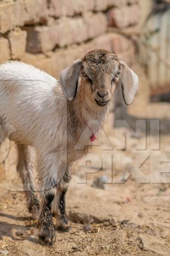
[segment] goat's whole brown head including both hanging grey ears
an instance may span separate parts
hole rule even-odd
[[[138,76],[125,62],[104,49],[88,52],[84,58],[74,61],[62,71],[60,84],[68,101],[72,101],[76,96],[79,76],[86,96],[100,106],[108,104],[119,78],[127,105],[133,102],[138,88]]]

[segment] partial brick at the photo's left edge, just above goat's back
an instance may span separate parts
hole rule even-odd
[[[8,61],[10,59],[10,48],[8,39],[0,38],[0,63]]]

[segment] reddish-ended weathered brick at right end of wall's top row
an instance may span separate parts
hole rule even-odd
[[[109,26],[119,28],[135,25],[139,20],[139,6],[126,6],[121,9],[111,9],[107,13]]]

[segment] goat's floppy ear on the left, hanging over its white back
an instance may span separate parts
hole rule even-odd
[[[81,67],[82,59],[78,59],[60,74],[61,88],[68,101],[72,101],[76,96]]]

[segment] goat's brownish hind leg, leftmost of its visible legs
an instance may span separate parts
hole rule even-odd
[[[24,191],[27,198],[27,206],[32,218],[37,219],[40,210],[40,203],[34,188],[33,163],[31,162],[31,148],[27,145],[17,144],[18,163],[17,171],[23,181]]]

